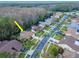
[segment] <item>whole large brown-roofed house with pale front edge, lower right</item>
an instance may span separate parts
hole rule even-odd
[[[58,46],[79,54],[79,40],[72,36],[66,36],[60,40]]]

